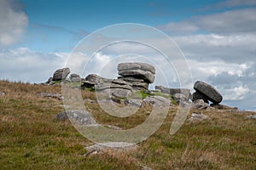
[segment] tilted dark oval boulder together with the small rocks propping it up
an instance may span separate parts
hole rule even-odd
[[[194,89],[195,93],[192,94],[192,101],[203,99],[205,103],[211,101],[214,105],[217,105],[223,99],[222,95],[207,82],[195,82]]]

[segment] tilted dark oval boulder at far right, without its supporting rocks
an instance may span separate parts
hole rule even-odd
[[[223,99],[222,95],[210,84],[207,84],[207,82],[195,82],[194,89],[207,96],[207,98],[215,104],[220,103]]]

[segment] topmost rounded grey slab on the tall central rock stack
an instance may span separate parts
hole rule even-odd
[[[149,71],[155,74],[155,68],[153,65],[147,63],[120,63],[118,65],[118,71],[130,71],[130,70],[142,70]]]

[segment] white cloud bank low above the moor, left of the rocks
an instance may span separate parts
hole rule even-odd
[[[1,79],[22,82],[46,82],[67,60],[65,53],[42,54],[28,48],[0,51]]]

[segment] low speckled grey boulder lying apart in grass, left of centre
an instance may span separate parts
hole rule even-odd
[[[63,111],[55,116],[55,121],[66,121],[68,117],[80,125],[96,125],[96,121],[87,111]]]

